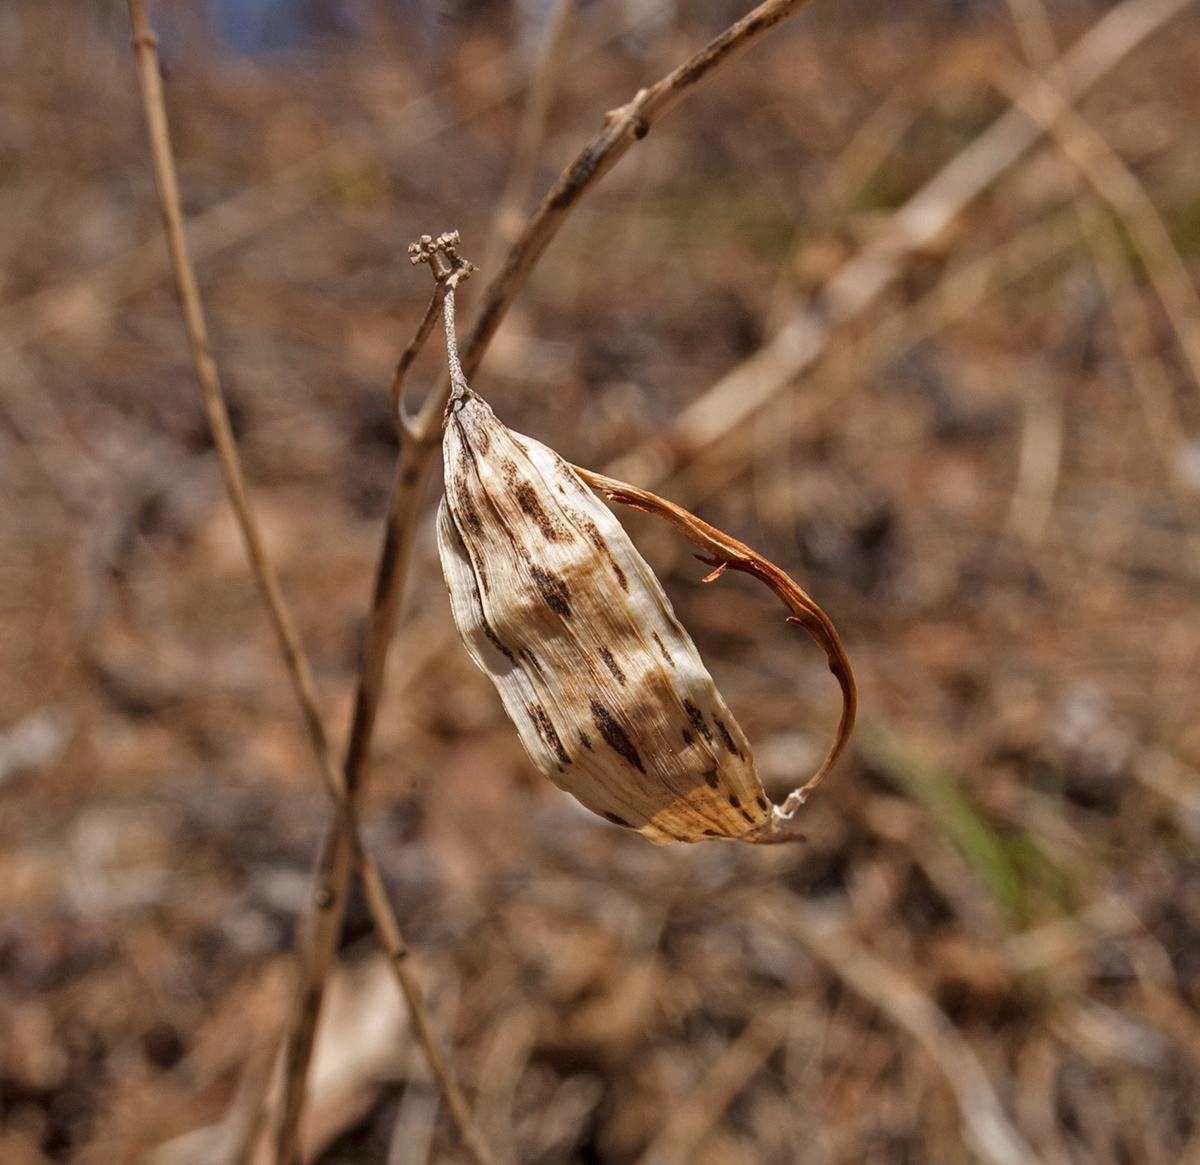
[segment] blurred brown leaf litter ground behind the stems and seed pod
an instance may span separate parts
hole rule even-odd
[[[583,13],[541,186],[719,7],[617,40]],[[499,8],[433,50],[380,5],[370,36],[257,61],[169,12],[218,359],[344,731],[385,386],[427,293],[404,248],[455,226],[482,253],[524,59]],[[1099,12],[1055,14],[1070,44]],[[228,1160],[328,806],[157,258],[124,13],[0,16],[0,1159]],[[583,203],[478,388],[584,466],[662,432],[1003,112],[1001,17],[817,4],[779,30]],[[1186,10],[1079,106],[1193,282],[1196,77]],[[1045,1165],[1200,1160],[1200,396],[1081,191],[1040,144],[660,487],[847,643],[865,723],[804,846],[654,849],[536,777],[426,524],[366,831],[503,1159],[959,1161],[995,1103]],[[823,661],[631,528],[785,792],[836,717]],[[308,1143],[452,1159],[372,950],[353,907]]]

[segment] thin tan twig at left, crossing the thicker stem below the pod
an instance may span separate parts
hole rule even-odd
[[[388,901],[383,878],[378,867],[365,852],[358,833],[354,806],[346,795],[346,783],[338,769],[329,738],[322,721],[317,704],[316,684],[312,669],[308,665],[304,644],[299,631],[288,611],[283,591],[280,587],[275,569],[266,556],[262,533],[250,505],[246,493],[245,478],[241,470],[241,462],[238,455],[233,428],[229,424],[229,413],[226,407],[224,395],[217,373],[216,361],[212,356],[211,346],[208,337],[208,326],[204,318],[204,308],[200,300],[199,287],[196,281],[196,271],[192,266],[187,250],[187,240],[184,233],[184,218],[179,198],[179,182],[175,174],[174,160],[170,148],[170,133],[167,124],[167,107],[162,92],[162,76],[158,65],[156,38],[146,22],[144,0],[128,0],[130,18],[133,25],[133,44],[137,52],[138,78],[142,86],[143,104],[145,109],[146,125],[150,132],[151,152],[154,156],[155,179],[158,186],[160,202],[162,206],[163,223],[167,233],[167,245],[170,251],[172,264],[179,286],[179,295],[184,311],[184,322],[187,330],[188,343],[192,349],[192,359],[196,364],[197,378],[200,383],[200,392],[204,401],[205,413],[212,430],[214,444],[217,450],[217,458],[221,464],[222,476],[230,503],[238,518],[238,524],[246,545],[254,581],[262,593],[263,601],[268,608],[271,624],[278,638],[288,674],[295,689],[296,698],[300,703],[308,738],[320,764],[322,774],[338,806],[340,833],[344,834],[348,841],[347,854],[349,861],[358,866],[362,878],[364,893],[367,906],[371,911],[372,920],[379,933],[380,943],[389,955],[389,961],[394,968],[401,990],[404,993],[413,1014],[413,1025],[418,1038],[430,1061],[431,1070],[437,1077],[439,1086],[446,1099],[446,1107],[450,1110],[460,1133],[472,1152],[472,1155],[486,1165],[488,1157],[486,1152],[480,1152],[478,1136],[470,1121],[469,1111],[462,1092],[455,1083],[450,1074],[449,1065],[433,1035],[428,1014],[421,998],[420,987],[407,963],[408,949],[404,944],[396,917]],[[437,299],[437,296],[436,296]],[[428,335],[428,330],[425,330]],[[418,334],[418,344],[421,340]],[[412,349],[412,346],[410,346]],[[412,364],[415,352],[406,352],[407,367]],[[402,371],[397,372],[397,378],[402,377]],[[398,392],[398,388],[397,388]],[[348,873],[347,869],[347,873]],[[318,894],[318,905],[324,906],[325,897]],[[328,909],[318,909],[316,926],[313,927],[313,941],[320,932]],[[341,918],[338,917],[338,927]],[[336,937],[336,936],[335,936]],[[312,985],[301,984],[301,1007],[307,1005],[312,996]],[[318,998],[319,998],[319,991]],[[293,1025],[293,1031],[295,1025]],[[294,1051],[294,1050],[293,1050]],[[310,1050],[311,1051],[311,1050]],[[301,1057],[289,1056],[289,1068]],[[307,1068],[308,1057],[302,1057]],[[290,1079],[289,1079],[290,1083]],[[302,1079],[300,1081],[300,1095],[302,1099]]]

